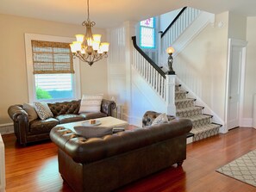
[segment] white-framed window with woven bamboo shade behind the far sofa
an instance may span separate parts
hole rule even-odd
[[[72,59],[72,38],[26,34],[29,102],[80,98],[78,59]],[[74,63],[74,64],[73,64]]]

